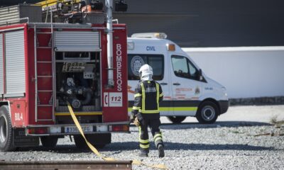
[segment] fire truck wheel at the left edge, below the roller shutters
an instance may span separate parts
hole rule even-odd
[[[0,107],[0,150],[13,151],[13,129],[8,106]]]

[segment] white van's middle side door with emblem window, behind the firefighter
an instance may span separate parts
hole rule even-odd
[[[140,80],[138,70],[143,64],[149,64],[153,68],[153,79],[163,89],[164,100],[160,103],[160,115],[172,115],[169,113],[170,98],[170,77],[168,77],[168,62],[165,62],[165,55],[157,54],[129,54],[128,55],[128,86],[129,86],[129,112],[133,106],[133,94],[135,87]]]

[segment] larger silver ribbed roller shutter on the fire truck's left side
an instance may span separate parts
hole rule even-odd
[[[6,33],[6,94],[26,92],[23,30]]]

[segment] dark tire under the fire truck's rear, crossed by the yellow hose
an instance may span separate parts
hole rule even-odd
[[[102,149],[111,142],[111,133],[85,135],[87,140],[97,149]],[[75,145],[79,149],[88,149],[88,145],[81,135],[74,135]]]

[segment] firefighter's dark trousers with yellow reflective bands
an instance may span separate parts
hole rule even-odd
[[[148,136],[148,127],[151,129],[153,135],[153,140],[155,142],[155,147],[158,148],[158,145],[163,145],[163,137],[160,132],[160,118],[138,118],[140,122],[139,128],[139,146],[140,150],[143,153],[149,152],[149,136]]]

